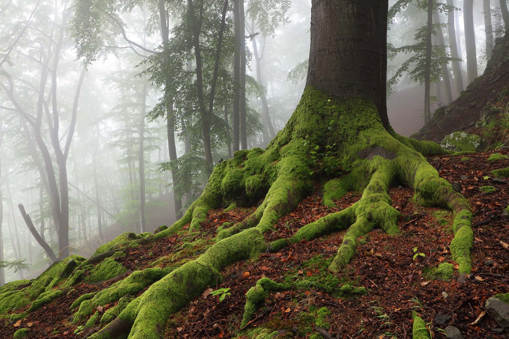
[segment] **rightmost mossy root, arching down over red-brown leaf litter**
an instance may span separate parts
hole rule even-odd
[[[423,205],[438,206],[453,211],[454,239],[450,244],[453,260],[459,264],[459,279],[470,273],[470,250],[473,245],[471,227],[472,211],[468,200],[456,192],[453,186],[426,159],[407,152],[405,157],[395,160],[400,169],[399,178],[415,191],[414,200]]]

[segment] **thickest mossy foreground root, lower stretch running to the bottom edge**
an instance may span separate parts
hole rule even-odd
[[[196,260],[187,262],[154,283],[130,302],[117,319],[91,338],[118,337],[126,334],[126,330],[130,330],[130,338],[160,338],[169,315],[180,310],[206,286],[215,284],[221,267],[249,258],[263,247],[263,235],[258,227],[218,241]]]

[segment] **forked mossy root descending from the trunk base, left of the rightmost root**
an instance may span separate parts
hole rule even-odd
[[[373,230],[374,226],[381,227],[388,234],[399,231],[397,221],[400,213],[390,205],[388,194],[389,185],[395,177],[394,165],[391,161],[376,156],[368,166],[368,173],[373,175],[356,204],[355,223],[348,228],[343,243],[329,266],[332,271],[338,271],[350,262],[355,254],[357,238]]]

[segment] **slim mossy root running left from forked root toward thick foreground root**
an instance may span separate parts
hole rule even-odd
[[[347,229],[355,221],[356,208],[357,204],[354,204],[339,212],[327,214],[313,223],[302,226],[292,237],[273,241],[269,245],[268,250],[275,253],[285,246],[297,243],[302,239],[310,241],[322,235]]]

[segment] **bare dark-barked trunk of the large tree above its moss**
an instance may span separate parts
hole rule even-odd
[[[386,129],[387,37],[373,32],[386,32],[387,7],[378,0],[314,2],[306,82],[334,98],[373,100]]]

